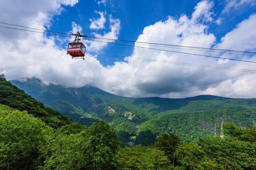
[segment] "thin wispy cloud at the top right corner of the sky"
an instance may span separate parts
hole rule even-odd
[[[225,0],[225,3],[226,5],[222,14],[229,13],[231,9],[238,9],[245,5],[254,6],[256,4],[256,0]]]

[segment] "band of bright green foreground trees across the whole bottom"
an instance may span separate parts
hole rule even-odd
[[[118,147],[104,121],[57,130],[27,111],[0,104],[0,169],[24,170],[237,170],[256,169],[256,128],[223,124],[224,138],[182,142],[172,133],[150,146]]]

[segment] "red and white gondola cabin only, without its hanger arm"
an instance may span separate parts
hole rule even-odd
[[[82,42],[70,42],[68,44],[67,53],[72,56],[72,58],[84,59],[86,47]]]

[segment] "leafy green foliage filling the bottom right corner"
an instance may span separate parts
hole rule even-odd
[[[205,153],[225,169],[255,169],[256,128],[240,129],[233,123],[227,123],[223,128],[227,135],[223,139],[220,137],[200,139],[199,145]],[[245,137],[247,135],[250,136],[249,141],[248,137]]]

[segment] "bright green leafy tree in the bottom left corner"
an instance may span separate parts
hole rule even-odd
[[[26,111],[0,105],[0,167],[38,169],[53,129]]]

